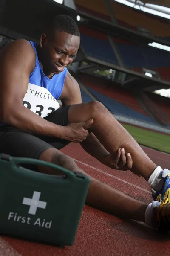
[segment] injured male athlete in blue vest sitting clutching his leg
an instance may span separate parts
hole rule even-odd
[[[170,203],[164,199],[170,171],[156,166],[100,102],[82,104],[79,85],[66,68],[79,43],[74,20],[58,15],[39,44],[21,39],[4,47],[0,59],[0,152],[85,173],[59,151],[70,141],[80,143],[105,165],[143,176],[153,198],[161,201],[144,204],[88,175],[91,183],[86,204],[170,230],[169,210],[164,211]],[[39,167],[39,171],[54,174],[47,168]]]

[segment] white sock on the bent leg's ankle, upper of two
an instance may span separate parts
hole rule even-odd
[[[163,170],[161,166],[156,167],[153,173],[150,175],[147,183],[156,191],[159,191],[164,185],[164,178],[162,177]]]

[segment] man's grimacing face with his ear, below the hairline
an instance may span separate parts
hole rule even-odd
[[[54,74],[61,73],[68,64],[73,62],[79,49],[80,38],[66,32],[59,32],[54,39],[41,36],[40,46],[43,52],[43,65]]]

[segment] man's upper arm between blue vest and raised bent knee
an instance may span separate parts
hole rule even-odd
[[[68,73],[65,78],[65,84],[60,97],[62,106],[82,103],[81,91],[77,81]]]

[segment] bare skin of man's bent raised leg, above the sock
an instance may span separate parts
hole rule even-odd
[[[68,111],[69,122],[84,122],[94,119],[90,131],[94,133],[102,145],[111,153],[118,148],[125,148],[131,154],[133,169],[148,180],[150,174],[156,169],[156,164],[144,153],[136,140],[112,116],[100,102],[88,102],[71,105]]]

